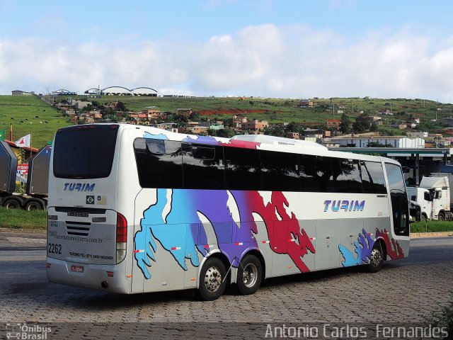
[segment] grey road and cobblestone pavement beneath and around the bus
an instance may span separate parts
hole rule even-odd
[[[0,233],[0,317],[51,324],[59,335],[48,339],[189,339],[200,337],[200,327],[212,336],[230,327],[230,339],[243,339],[250,329],[264,337],[268,323],[416,324],[453,289],[453,237],[413,239],[409,257],[379,273],[355,267],[273,278],[255,295],[227,291],[213,302],[198,302],[190,291],[117,295],[49,283],[45,251],[40,235]]]

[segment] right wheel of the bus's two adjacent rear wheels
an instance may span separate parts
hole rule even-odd
[[[263,266],[258,257],[246,255],[238,267],[236,283],[242,295],[254,294],[260,288],[263,278]]]

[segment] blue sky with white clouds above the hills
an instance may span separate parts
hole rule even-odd
[[[0,2],[0,94],[453,94],[453,1]]]

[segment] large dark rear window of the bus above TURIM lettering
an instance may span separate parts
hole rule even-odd
[[[118,125],[78,125],[59,130],[53,149],[54,175],[98,179],[112,170]]]

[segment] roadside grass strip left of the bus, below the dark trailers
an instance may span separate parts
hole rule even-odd
[[[25,211],[0,207],[0,227],[11,229],[46,229],[47,211]]]

